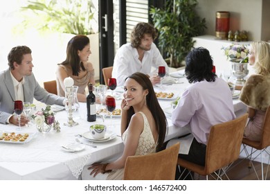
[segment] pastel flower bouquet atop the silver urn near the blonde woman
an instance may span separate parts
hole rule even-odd
[[[224,51],[227,60],[238,59],[240,61],[247,58],[247,55],[249,54],[248,46],[242,44],[231,44],[230,46],[222,47],[222,51]]]

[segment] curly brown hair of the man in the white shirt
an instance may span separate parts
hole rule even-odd
[[[152,35],[152,39],[156,39],[157,33],[156,28],[152,26],[152,24],[148,24],[145,22],[138,23],[132,30],[132,34],[130,35],[130,42],[132,47],[138,48],[141,44],[141,39],[143,35],[150,34]]]

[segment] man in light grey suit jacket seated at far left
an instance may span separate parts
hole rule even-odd
[[[39,86],[32,73],[32,51],[28,46],[16,46],[8,53],[9,69],[0,73],[0,123],[19,125],[17,115],[13,114],[13,102],[22,100],[33,103],[35,98],[47,105],[64,105],[66,98],[49,94]],[[21,116],[21,125],[28,119]]]

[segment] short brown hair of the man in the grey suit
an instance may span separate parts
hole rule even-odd
[[[21,64],[21,61],[24,58],[24,55],[31,54],[32,51],[28,46],[16,46],[13,47],[8,53],[8,66],[10,69],[14,70],[14,62],[17,62],[17,64]]]

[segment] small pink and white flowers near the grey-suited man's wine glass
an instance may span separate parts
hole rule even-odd
[[[55,113],[51,110],[50,105],[47,105],[45,109],[36,112],[35,115],[33,115],[33,118],[37,126],[42,126],[44,123],[47,125],[55,123]]]

